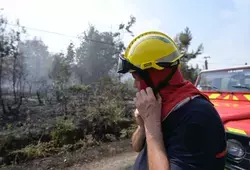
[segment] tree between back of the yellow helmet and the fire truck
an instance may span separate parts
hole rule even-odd
[[[177,34],[175,38],[175,42],[177,43],[181,53],[184,55],[181,59],[181,71],[185,79],[195,82],[196,77],[198,75],[199,67],[198,65],[194,68],[193,66],[189,66],[188,62],[197,56],[203,53],[203,45],[200,44],[196,51],[189,51],[189,47],[191,45],[193,37],[191,31],[188,27],[184,29],[181,33]]]

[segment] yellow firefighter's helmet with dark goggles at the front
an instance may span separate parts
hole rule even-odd
[[[178,64],[183,55],[176,43],[166,34],[150,31],[133,39],[119,58],[118,73],[154,68],[162,70]]]

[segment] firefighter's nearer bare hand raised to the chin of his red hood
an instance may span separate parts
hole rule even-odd
[[[138,92],[135,100],[136,108],[144,121],[146,133],[152,137],[154,134],[159,134],[162,108],[160,95],[157,95],[156,98],[152,88],[148,87],[146,90]]]

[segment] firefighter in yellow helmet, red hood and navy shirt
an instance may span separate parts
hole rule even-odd
[[[180,53],[166,34],[145,32],[119,57],[118,73],[131,73],[138,127],[135,170],[223,170],[225,130],[206,95],[180,72]]]

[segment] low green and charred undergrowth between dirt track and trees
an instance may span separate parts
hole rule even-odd
[[[62,95],[68,97],[67,102],[45,103],[39,109],[37,103],[29,106],[34,111],[29,122],[19,120],[23,125],[18,132],[15,124],[7,124],[8,134],[3,133],[0,140],[4,163],[21,163],[131,137],[133,120],[129,115],[133,108],[128,107],[128,100],[134,93],[126,84],[103,79],[91,86],[69,87]]]

